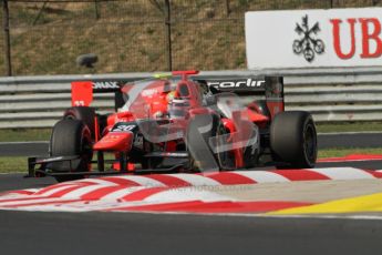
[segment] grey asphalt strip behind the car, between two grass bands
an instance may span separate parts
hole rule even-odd
[[[320,134],[318,136],[319,149],[329,147],[381,147],[382,133],[344,133]],[[47,155],[49,143],[0,143],[0,156],[31,156]]]

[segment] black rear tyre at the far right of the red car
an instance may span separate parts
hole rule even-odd
[[[287,163],[287,167],[313,167],[317,132],[311,114],[303,111],[277,114],[270,125],[270,147],[273,160]]]

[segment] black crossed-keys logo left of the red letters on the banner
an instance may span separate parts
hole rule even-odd
[[[321,31],[319,22],[316,22],[313,27],[309,28],[308,16],[304,16],[302,17],[301,24],[296,23],[295,31],[300,35],[300,39],[293,41],[295,54],[302,54],[310,63],[314,60],[316,54],[322,54],[324,52],[323,41],[317,38],[317,34]]]

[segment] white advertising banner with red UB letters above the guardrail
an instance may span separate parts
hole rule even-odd
[[[248,69],[382,65],[382,8],[246,13]]]

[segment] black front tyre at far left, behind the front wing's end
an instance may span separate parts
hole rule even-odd
[[[61,120],[54,126],[50,141],[50,155],[79,156],[75,162],[54,162],[50,169],[56,173],[87,172],[93,156],[89,128],[79,120]],[[79,175],[58,176],[59,182],[81,178]]]

